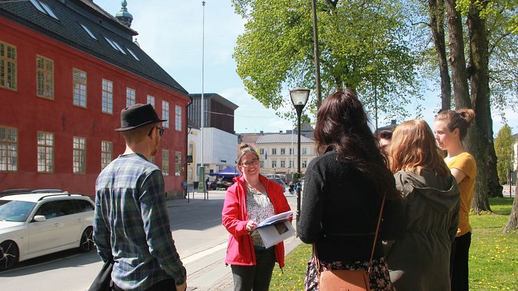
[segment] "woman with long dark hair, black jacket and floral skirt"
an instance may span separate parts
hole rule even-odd
[[[319,156],[306,169],[299,238],[314,244],[306,271],[306,290],[319,290],[319,271],[367,269],[383,197],[400,199],[387,158],[369,128],[353,90],[325,99],[317,113]],[[319,271],[317,271],[319,269]],[[392,290],[381,239],[369,272],[372,290]]]

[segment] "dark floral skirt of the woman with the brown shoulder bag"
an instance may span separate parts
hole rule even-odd
[[[318,273],[317,268],[315,267],[315,257],[311,256],[311,260],[308,263],[308,267],[306,269],[306,280],[304,281],[304,285],[306,285],[306,291],[314,291],[319,290],[318,287]],[[357,262],[320,262],[320,271],[327,271],[332,269],[369,269],[369,261],[357,261]],[[371,274],[369,274],[371,290],[394,290],[392,283],[390,282],[390,275],[388,272],[387,261],[384,257],[379,258],[378,260],[372,260],[372,269]]]

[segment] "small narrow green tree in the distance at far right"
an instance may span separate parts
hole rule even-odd
[[[503,185],[508,181],[508,172],[513,169],[513,158],[515,157],[515,149],[513,144],[515,139],[512,138],[511,128],[506,124],[500,128],[496,139],[494,140],[494,151],[496,153],[496,170],[498,172],[500,183]]]

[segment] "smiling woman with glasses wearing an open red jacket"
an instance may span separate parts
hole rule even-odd
[[[275,262],[284,267],[284,244],[265,248],[256,226],[290,210],[281,185],[259,174],[259,156],[241,144],[237,167],[242,175],[226,190],[222,222],[228,236],[225,263],[231,265],[234,290],[268,290]]]

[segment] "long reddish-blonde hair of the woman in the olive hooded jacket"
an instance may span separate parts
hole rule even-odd
[[[435,144],[428,124],[422,119],[412,119],[396,127],[390,145],[393,173],[398,171],[421,172],[428,169],[440,176],[450,174],[444,155]]]

